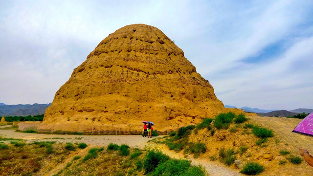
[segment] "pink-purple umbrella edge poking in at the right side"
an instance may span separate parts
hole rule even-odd
[[[313,112],[306,116],[292,132],[313,136]]]

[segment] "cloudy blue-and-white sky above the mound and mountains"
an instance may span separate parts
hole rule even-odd
[[[224,105],[313,109],[312,0],[0,0],[0,102],[52,102],[134,23],[175,41]]]

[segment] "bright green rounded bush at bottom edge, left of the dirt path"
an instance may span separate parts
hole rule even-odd
[[[170,159],[159,164],[153,176],[181,176],[190,167],[190,161]]]

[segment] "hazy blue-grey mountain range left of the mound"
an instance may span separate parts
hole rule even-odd
[[[1,105],[0,117],[2,116],[27,116],[44,114],[45,110],[51,105],[49,104],[33,104],[33,105]]]

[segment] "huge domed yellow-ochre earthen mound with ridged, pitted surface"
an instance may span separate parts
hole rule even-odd
[[[223,111],[174,42],[156,27],[133,24],[110,34],[74,69],[44,124],[190,124]]]

